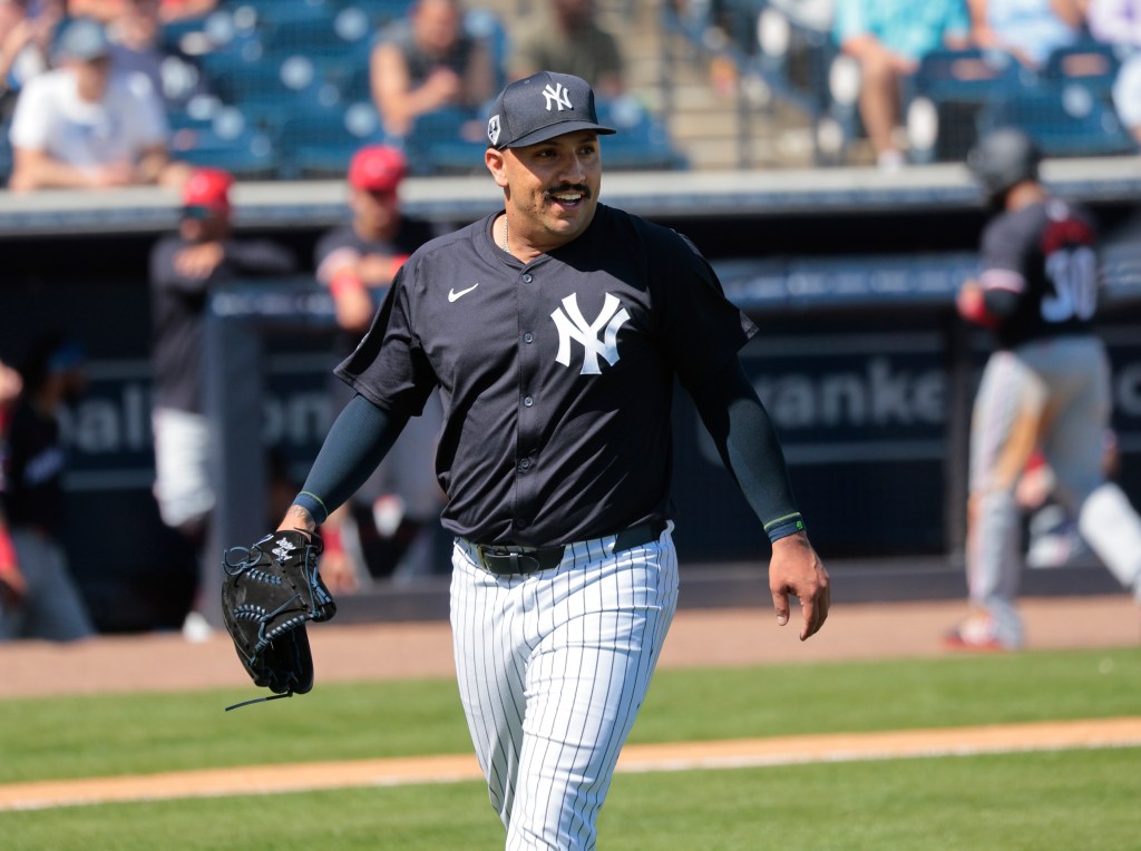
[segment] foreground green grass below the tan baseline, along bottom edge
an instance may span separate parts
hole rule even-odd
[[[1139,749],[618,775],[622,851],[1135,851]],[[493,851],[482,784],[0,813],[7,851]]]

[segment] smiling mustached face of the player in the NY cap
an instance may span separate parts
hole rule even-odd
[[[545,253],[582,235],[594,218],[602,160],[593,130],[556,136],[485,156],[503,187],[512,243]]]

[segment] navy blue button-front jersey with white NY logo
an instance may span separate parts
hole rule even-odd
[[[707,379],[756,327],[673,230],[599,204],[524,265],[495,216],[413,253],[338,375],[410,414],[439,386],[443,522],[462,537],[545,546],[665,519],[673,379]]]

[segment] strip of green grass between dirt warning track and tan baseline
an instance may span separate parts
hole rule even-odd
[[[661,671],[632,741],[1141,714],[1141,650]],[[451,679],[243,694],[0,700],[0,783],[314,760],[467,753]]]

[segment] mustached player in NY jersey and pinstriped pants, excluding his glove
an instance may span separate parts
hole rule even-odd
[[[504,206],[416,250],[337,370],[357,392],[280,530],[315,530],[439,388],[460,694],[508,849],[592,849],[677,606],[674,376],[772,541],[777,622],[828,576],[737,358],[756,327],[686,238],[599,203],[589,84],[508,86],[485,163]]]

